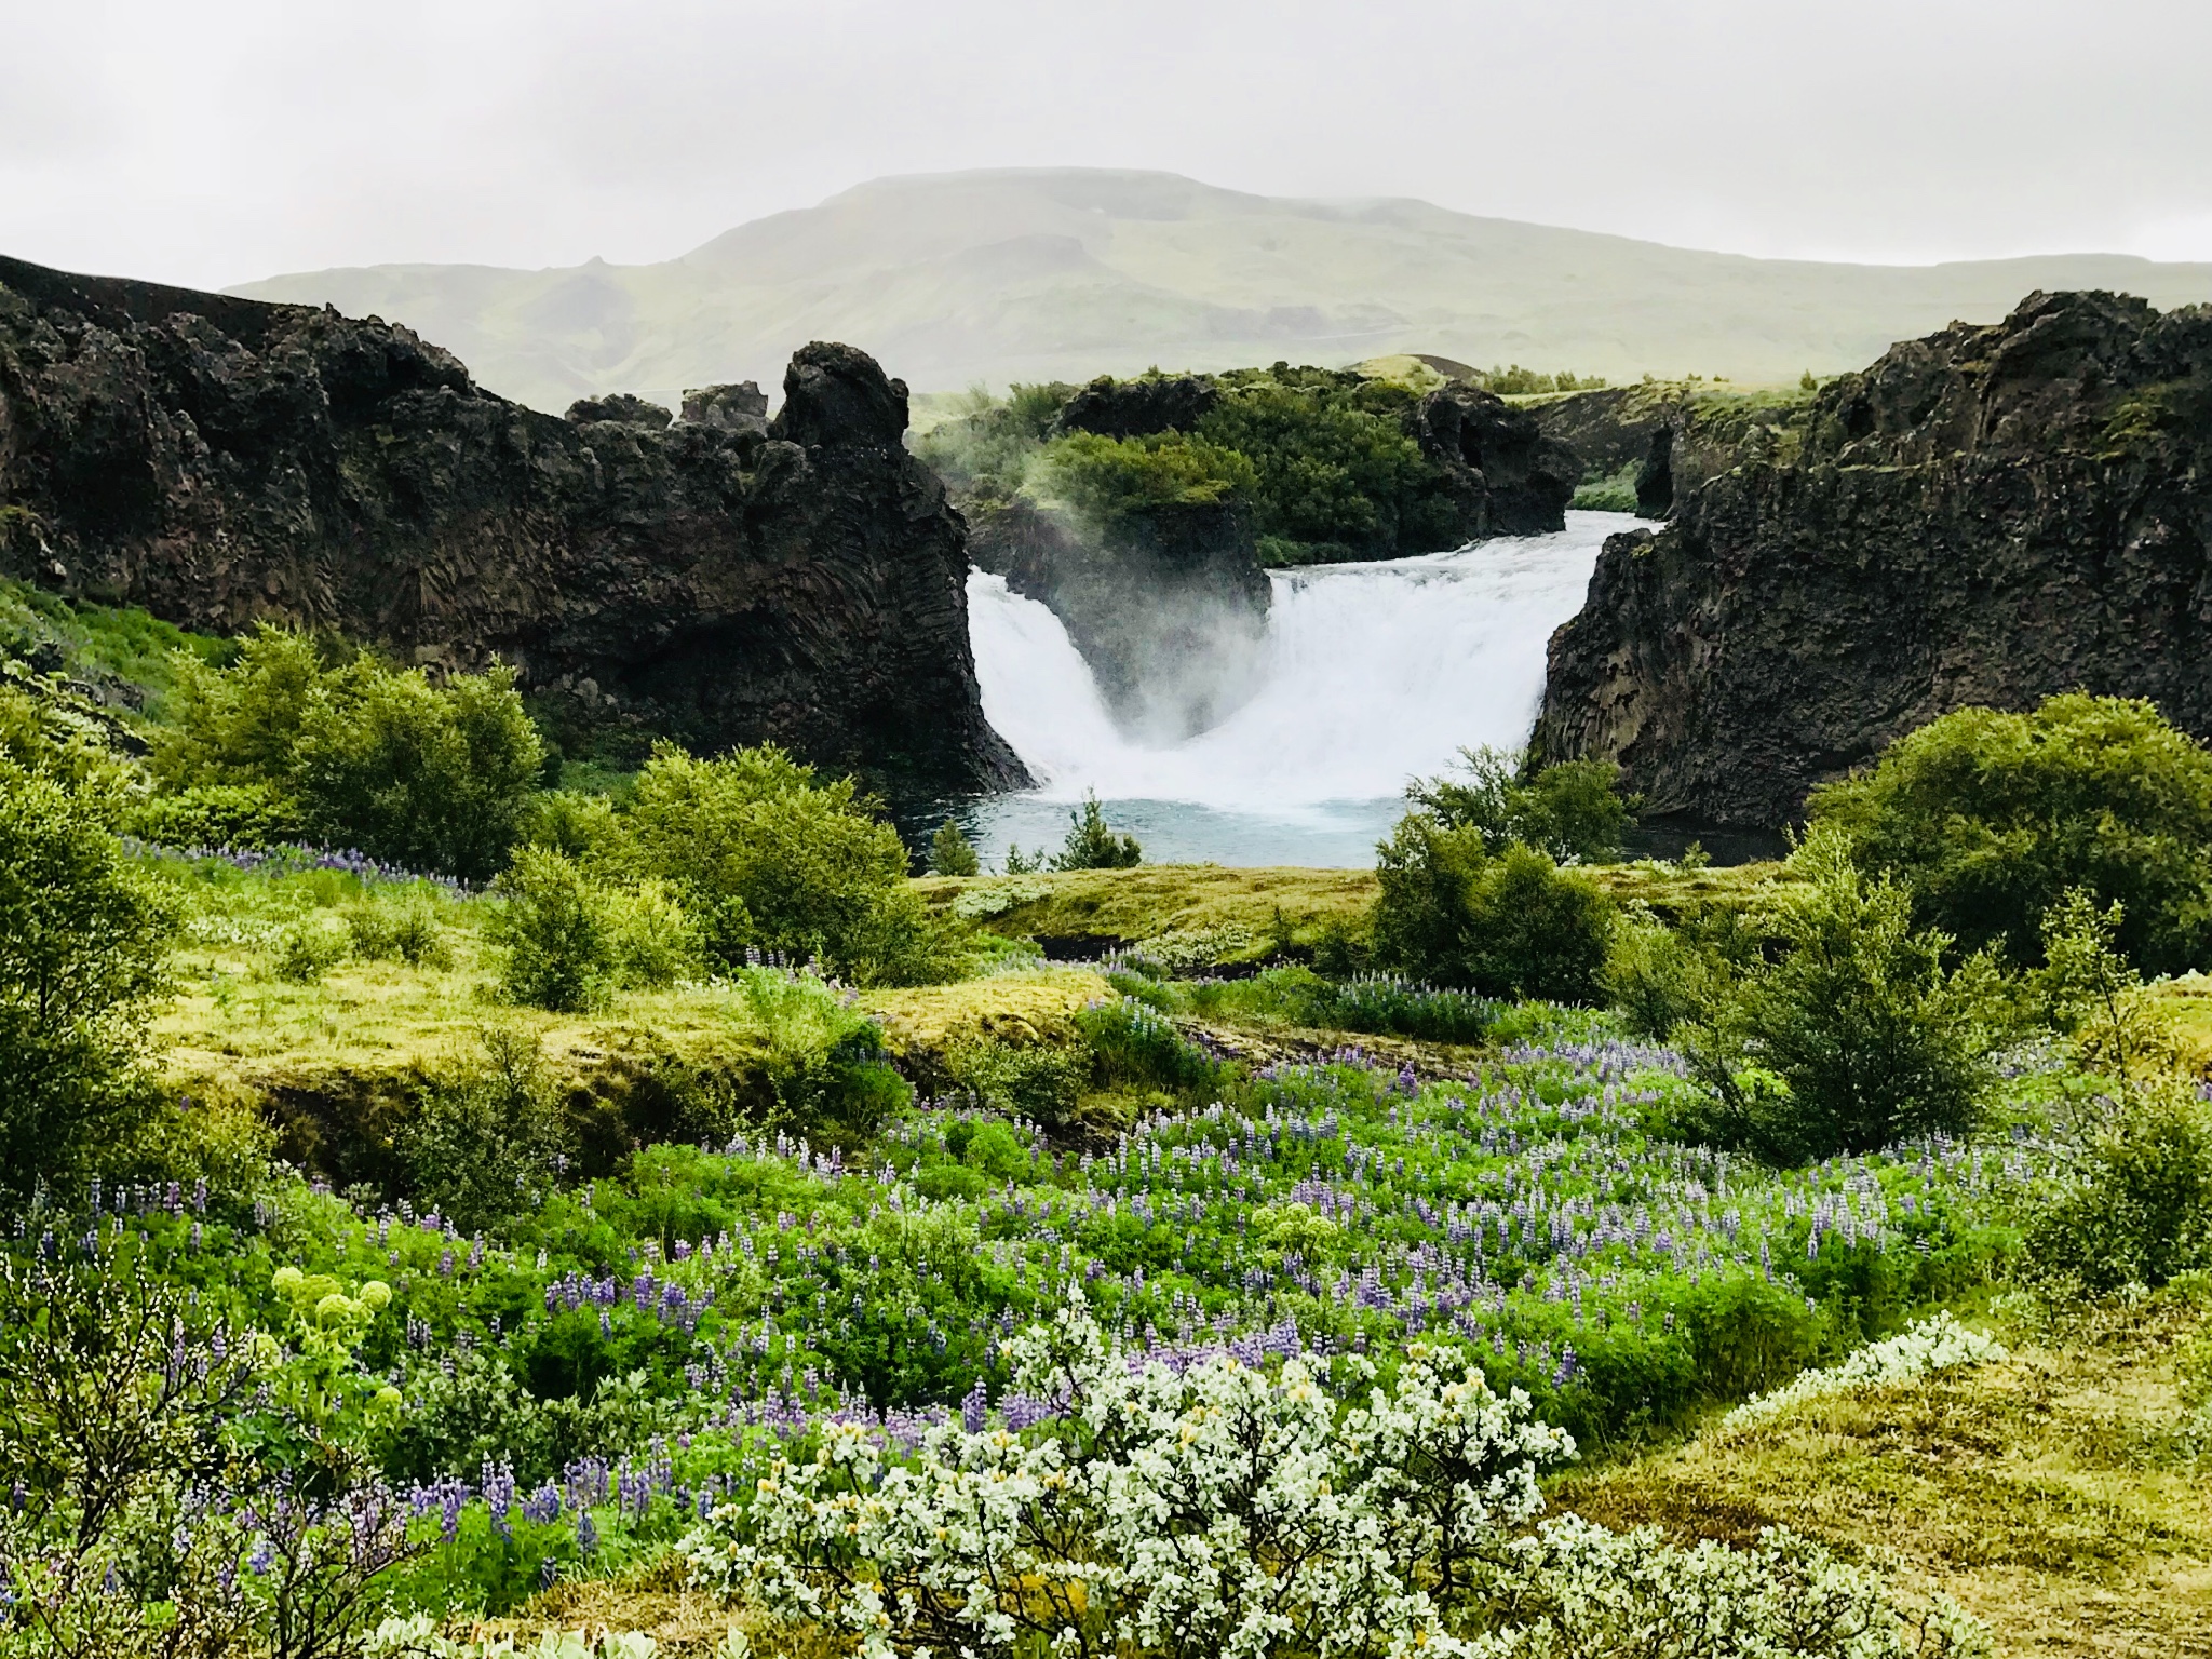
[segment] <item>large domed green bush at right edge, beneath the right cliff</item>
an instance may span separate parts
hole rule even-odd
[[[2121,949],[2146,973],[2212,962],[2212,752],[2146,701],[1962,708],[1816,790],[1809,814],[1962,949],[2033,964],[2044,914],[2081,889],[2126,905]]]

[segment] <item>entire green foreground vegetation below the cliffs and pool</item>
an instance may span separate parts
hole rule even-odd
[[[549,790],[495,670],[164,697],[0,692],[0,1655],[2203,1637],[2148,710],[1907,739],[1750,872],[1473,754],[1374,872],[1088,803],[911,880],[776,750]],[[146,834],[226,801],[376,849]]]

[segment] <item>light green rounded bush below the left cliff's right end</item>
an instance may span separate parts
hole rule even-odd
[[[774,745],[701,761],[661,745],[630,799],[630,860],[684,896],[726,967],[745,951],[818,960],[863,984],[958,967],[947,925],[907,885],[898,832],[852,779],[823,783]]]

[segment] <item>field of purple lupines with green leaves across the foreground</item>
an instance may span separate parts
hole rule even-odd
[[[296,1433],[312,1396],[374,1464],[392,1606],[500,1613],[750,1502],[832,1425],[911,1451],[1051,1418],[1009,1345],[1073,1314],[1177,1371],[1387,1376],[1427,1338],[1586,1451],[1632,1447],[1971,1296],[2039,1175],[1989,1144],[1787,1172],[1686,1144],[1677,1055],[1606,1035],[1420,1077],[1358,1048],[1250,1071],[1139,1002],[1091,1015],[1186,1079],[1108,1144],[922,1099],[860,1144],[752,1130],[644,1148],[619,1179],[549,1170],[504,1237],[321,1183],[250,1206],[95,1183],[88,1210],[18,1221],[15,1274],[179,1287],[206,1334],[177,1365],[215,1378],[226,1332],[279,1334],[290,1358],[237,1420]]]

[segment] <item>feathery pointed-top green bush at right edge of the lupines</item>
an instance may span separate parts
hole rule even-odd
[[[1783,956],[1679,1029],[1712,1091],[1705,1130],[1778,1164],[1966,1133],[1989,1084],[1986,962],[1947,971],[1942,933],[1867,878],[1834,832],[1792,854],[1809,878],[1761,918]]]

